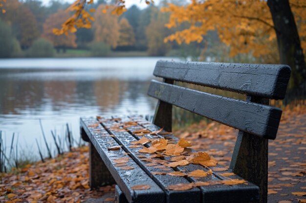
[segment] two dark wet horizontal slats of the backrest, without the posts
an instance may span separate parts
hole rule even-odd
[[[171,115],[166,111],[175,105],[235,129],[275,139],[282,110],[252,101],[254,98],[283,99],[290,72],[287,65],[160,60],[153,74],[163,77],[164,82],[152,80],[148,94],[163,102],[164,107],[156,109],[156,113],[164,111],[158,119],[167,119],[161,117]],[[174,81],[239,92],[248,97],[243,101],[200,92],[173,85]]]

